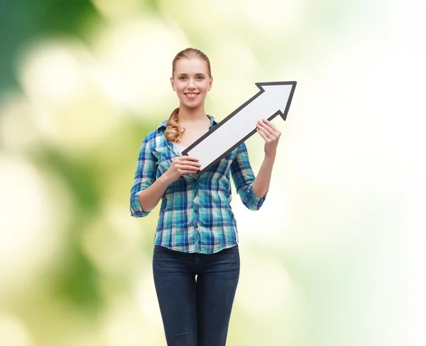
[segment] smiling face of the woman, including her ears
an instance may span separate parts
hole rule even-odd
[[[179,59],[175,63],[175,72],[170,82],[178,95],[180,107],[195,108],[204,104],[207,92],[212,87],[213,78],[209,77],[205,60]]]

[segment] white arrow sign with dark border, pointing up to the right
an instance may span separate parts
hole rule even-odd
[[[199,175],[253,136],[258,120],[271,120],[277,115],[286,119],[296,82],[264,82],[256,86],[260,92],[182,151],[182,155],[200,160]]]

